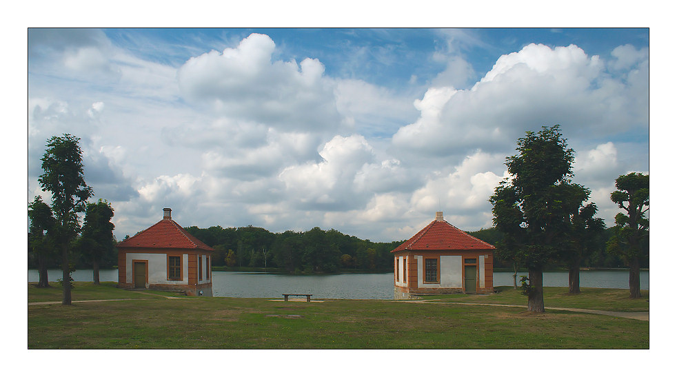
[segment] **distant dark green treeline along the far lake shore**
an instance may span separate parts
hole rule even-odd
[[[372,242],[334,229],[321,230],[319,227],[307,232],[283,233],[272,233],[252,225],[227,228],[218,225],[208,228],[192,226],[186,227],[185,230],[210,247],[214,247],[212,257],[214,266],[279,268],[290,274],[337,272],[339,269],[390,272],[393,269],[390,251],[406,241]],[[618,256],[606,252],[605,243],[613,232],[613,228],[605,230],[605,239],[600,242],[598,251],[583,261],[581,266],[625,267]],[[503,239],[503,234],[493,227],[467,233],[492,245],[498,245]],[[29,250],[28,267],[36,268],[31,254]],[[76,251],[76,254],[79,253]],[[79,255],[75,255],[73,260],[77,269],[91,268],[89,261]],[[117,250],[103,256],[101,262],[101,268],[117,265]],[[59,268],[58,258],[50,261],[48,267]],[[494,268],[512,269],[512,267],[512,263],[494,258]],[[642,267],[649,267],[648,262]]]

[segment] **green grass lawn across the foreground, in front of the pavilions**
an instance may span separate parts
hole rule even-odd
[[[60,301],[61,289],[29,285],[29,302]],[[512,288],[511,288],[512,290]],[[625,308],[601,289],[586,296],[546,290],[547,306]],[[585,289],[587,291],[587,289]],[[623,291],[623,289],[618,289]],[[627,294],[627,291],[625,291]],[[497,303],[514,292],[443,300]],[[28,348],[119,349],[622,349],[649,348],[649,323],[574,312],[430,305],[389,300],[281,302],[265,298],[168,299],[114,283],[77,283],[73,300],[138,300],[28,306]],[[552,296],[552,298],[550,297]],[[648,297],[648,293],[646,294]],[[141,300],[142,299],[142,300]],[[561,301],[558,301],[561,300]],[[646,300],[642,300],[646,303]],[[572,305],[565,305],[569,303]],[[589,307],[585,305],[592,305]],[[648,308],[648,305],[647,305]]]

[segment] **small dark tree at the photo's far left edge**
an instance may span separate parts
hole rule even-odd
[[[28,204],[28,218],[30,219],[28,242],[38,262],[38,287],[49,287],[47,261],[54,254],[54,243],[52,243],[54,216],[52,216],[52,209],[42,201],[41,196],[36,196]]]

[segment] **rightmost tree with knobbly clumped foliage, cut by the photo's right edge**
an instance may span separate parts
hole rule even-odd
[[[616,179],[611,199],[627,214],[616,214],[616,234],[607,243],[607,251],[620,255],[629,267],[630,298],[640,298],[639,267],[649,257],[649,175],[630,173]]]

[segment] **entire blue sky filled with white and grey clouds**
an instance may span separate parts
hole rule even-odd
[[[649,30],[28,30],[28,201],[51,136],[81,139],[118,240],[161,220],[410,238],[488,201],[527,131],[559,124],[613,225],[649,173]]]

